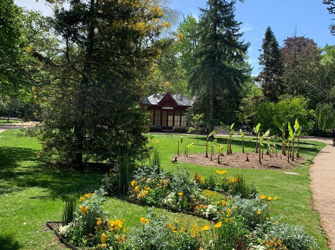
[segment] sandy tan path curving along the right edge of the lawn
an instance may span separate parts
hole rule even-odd
[[[305,137],[300,139],[326,143],[314,158],[310,168],[311,190],[314,208],[319,212],[322,227],[329,238],[328,245],[335,250],[335,147],[331,138]]]

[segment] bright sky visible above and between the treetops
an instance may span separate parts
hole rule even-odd
[[[44,15],[50,15],[51,11],[45,7],[45,2],[39,0],[14,0],[19,6],[27,9],[43,11]],[[185,16],[192,13],[198,16],[198,7],[205,8],[205,0],[171,0],[171,7],[178,9]],[[305,35],[323,47],[326,43],[335,44],[335,36],[329,32],[329,24],[335,15],[329,15],[327,5],[322,0],[245,0],[236,4],[236,20],[243,22],[241,30],[244,31],[243,39],[250,42],[248,54],[249,63],[254,67],[253,75],[260,71],[258,64],[259,49],[262,45],[264,32],[268,26],[274,32],[279,45],[293,32],[295,23],[297,35]],[[181,15],[181,19],[182,19]],[[335,22],[335,20],[333,21]]]

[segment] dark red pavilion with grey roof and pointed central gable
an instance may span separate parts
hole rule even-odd
[[[192,126],[185,121],[186,109],[195,103],[182,94],[153,94],[141,102],[151,112],[150,128],[183,131]]]

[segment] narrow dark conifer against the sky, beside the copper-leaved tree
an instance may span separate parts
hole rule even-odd
[[[276,102],[282,91],[281,75],[283,73],[283,57],[278,41],[270,26],[265,31],[262,49],[263,53],[258,57],[262,71],[256,77],[256,82],[261,83],[263,95],[270,102]]]

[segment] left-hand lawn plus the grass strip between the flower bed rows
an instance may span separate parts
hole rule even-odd
[[[83,195],[98,189],[107,170],[78,171],[48,164],[35,154],[41,148],[36,139],[20,138],[13,132],[18,131],[0,134],[0,249],[57,250],[60,243],[45,227],[46,221],[60,221],[66,195],[74,190]],[[148,210],[113,198],[104,207],[110,219],[125,219],[130,229],[140,225]],[[177,218],[185,226],[208,223],[162,209],[154,212],[171,220]]]

